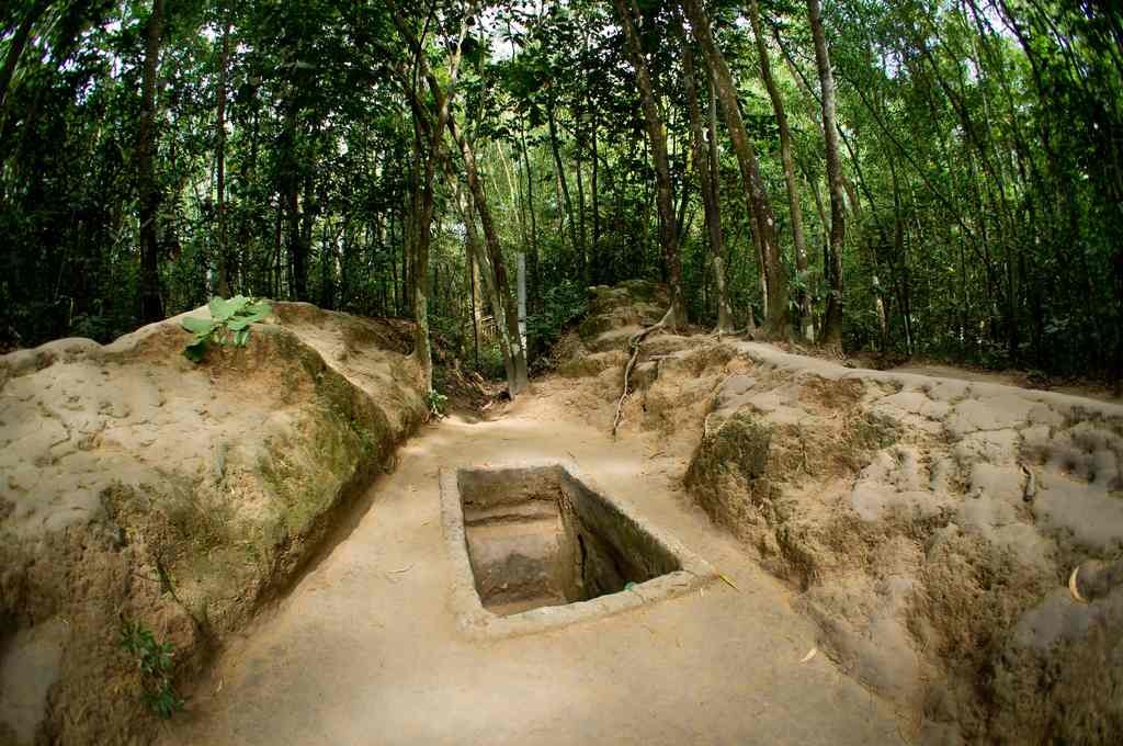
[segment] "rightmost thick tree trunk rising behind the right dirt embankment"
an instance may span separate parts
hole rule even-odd
[[[823,344],[842,346],[842,245],[846,240],[846,195],[842,188],[842,160],[834,113],[834,73],[827,52],[822,11],[819,0],[807,0],[807,18],[815,44],[815,65],[823,101],[823,139],[827,143],[827,183],[831,194],[831,239],[827,264],[827,317],[823,319]]]

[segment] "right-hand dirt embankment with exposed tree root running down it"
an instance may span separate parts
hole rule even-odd
[[[569,397],[611,427],[657,288],[594,289]],[[1123,407],[851,370],[727,337],[643,343],[629,429],[686,458],[691,499],[801,594],[821,647],[930,744],[1119,743]],[[1106,575],[1105,575],[1106,576]],[[1090,593],[1084,593],[1092,597]]]

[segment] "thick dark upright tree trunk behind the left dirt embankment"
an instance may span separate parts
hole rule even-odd
[[[156,182],[156,78],[164,31],[164,0],[153,0],[145,24],[144,72],[140,92],[140,125],[137,131],[137,184],[140,192],[140,320],[164,318],[159,282],[159,184]]]

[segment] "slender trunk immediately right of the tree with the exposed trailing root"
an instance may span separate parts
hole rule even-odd
[[[715,331],[728,334],[734,329],[734,324],[732,308],[729,304],[729,291],[725,286],[721,216],[718,207],[718,192],[714,189],[713,171],[716,164],[710,160],[710,152],[702,130],[702,108],[699,103],[695,81],[694,51],[687,45],[681,25],[676,30],[683,52],[683,83],[686,90],[691,126],[691,160],[694,162],[694,173],[699,180],[699,191],[702,193],[702,210],[705,215],[706,236],[710,245],[710,264],[713,267],[714,290],[718,295]]]

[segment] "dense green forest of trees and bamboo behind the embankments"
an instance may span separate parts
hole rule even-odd
[[[648,279],[668,327],[1123,370],[1111,0],[11,0],[0,61],[2,349],[244,294],[514,392]]]

